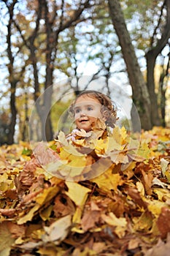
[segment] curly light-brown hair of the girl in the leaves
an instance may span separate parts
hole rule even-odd
[[[98,99],[98,101],[101,103],[101,114],[105,119],[105,124],[109,127],[114,128],[115,122],[118,119],[117,108],[115,107],[115,105],[112,104],[112,100],[107,95],[102,94],[99,91],[81,91],[80,94],[77,95],[76,99],[74,99],[74,102],[72,102],[72,105],[69,108],[69,113],[74,116],[74,105],[77,99],[83,95],[88,95],[88,97]]]

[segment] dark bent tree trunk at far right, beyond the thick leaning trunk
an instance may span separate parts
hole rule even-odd
[[[163,12],[166,12],[166,15],[163,15]],[[149,50],[146,52],[147,59],[147,88],[150,94],[151,102],[151,121],[152,125],[161,125],[160,116],[158,116],[158,98],[155,94],[155,78],[154,78],[154,69],[155,62],[163,48],[167,45],[170,38],[170,1],[163,1],[161,12],[158,18],[158,23],[155,26],[152,37],[150,38]],[[166,73],[167,74],[167,73]],[[162,80],[162,78],[161,78]],[[162,83],[162,82],[161,82]],[[163,91],[162,97],[164,101]],[[163,104],[164,105],[164,104]],[[163,119],[165,116],[163,113]]]

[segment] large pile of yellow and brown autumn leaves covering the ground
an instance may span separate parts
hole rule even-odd
[[[169,255],[170,129],[0,148],[0,255]]]

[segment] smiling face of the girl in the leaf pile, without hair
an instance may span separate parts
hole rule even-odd
[[[97,118],[102,118],[101,103],[98,99],[82,95],[78,97],[74,105],[74,122],[78,129],[89,132],[92,124],[95,126]]]

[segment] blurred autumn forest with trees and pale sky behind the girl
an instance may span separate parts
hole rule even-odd
[[[118,102],[127,129],[135,111],[142,129],[169,126],[170,1],[1,0],[0,12],[1,145],[52,140],[83,89]]]

